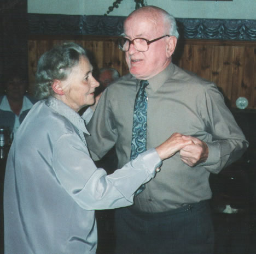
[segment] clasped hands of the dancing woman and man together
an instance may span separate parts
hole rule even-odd
[[[205,142],[199,140],[199,138],[179,133],[172,134],[171,137],[155,149],[161,160],[170,158],[179,152],[181,160],[190,167],[205,162],[209,153]]]

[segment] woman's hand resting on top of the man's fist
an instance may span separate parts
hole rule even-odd
[[[156,147],[156,152],[158,152],[161,160],[170,158],[185,146],[193,146],[194,143],[191,138],[184,137],[182,134],[174,133],[168,140]]]

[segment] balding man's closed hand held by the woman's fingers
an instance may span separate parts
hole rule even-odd
[[[190,139],[193,141],[193,144],[189,144],[179,151],[181,160],[190,167],[205,162],[209,154],[207,144],[196,137],[183,136],[183,138],[185,140]]]

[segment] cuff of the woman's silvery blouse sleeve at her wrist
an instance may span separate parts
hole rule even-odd
[[[155,176],[156,172],[159,172],[158,168],[162,166],[162,161],[156,152],[155,148],[149,149],[141,154],[142,160],[144,161],[147,171],[151,177]]]

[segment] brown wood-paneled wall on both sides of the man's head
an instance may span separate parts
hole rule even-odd
[[[124,53],[118,49],[117,37],[33,35],[28,40],[31,93],[39,57],[62,41],[74,41],[88,49],[95,68],[109,66],[117,69],[121,75],[128,73]],[[248,108],[256,109],[256,41],[179,41],[173,62],[215,82],[229,106],[235,107],[236,99],[243,96],[249,101]]]

